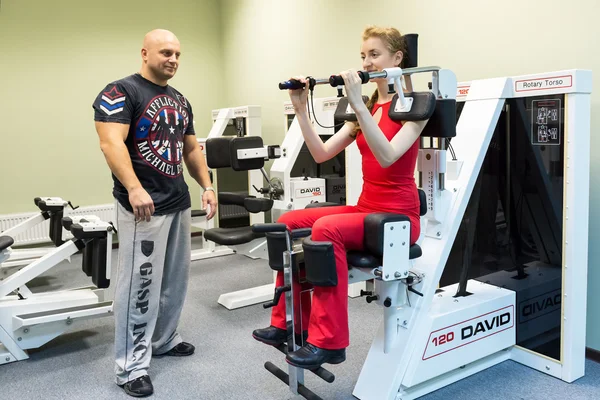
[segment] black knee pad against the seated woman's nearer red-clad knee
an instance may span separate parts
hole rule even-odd
[[[337,286],[335,255],[331,242],[315,242],[307,237],[302,242],[306,280],[315,286]]]

